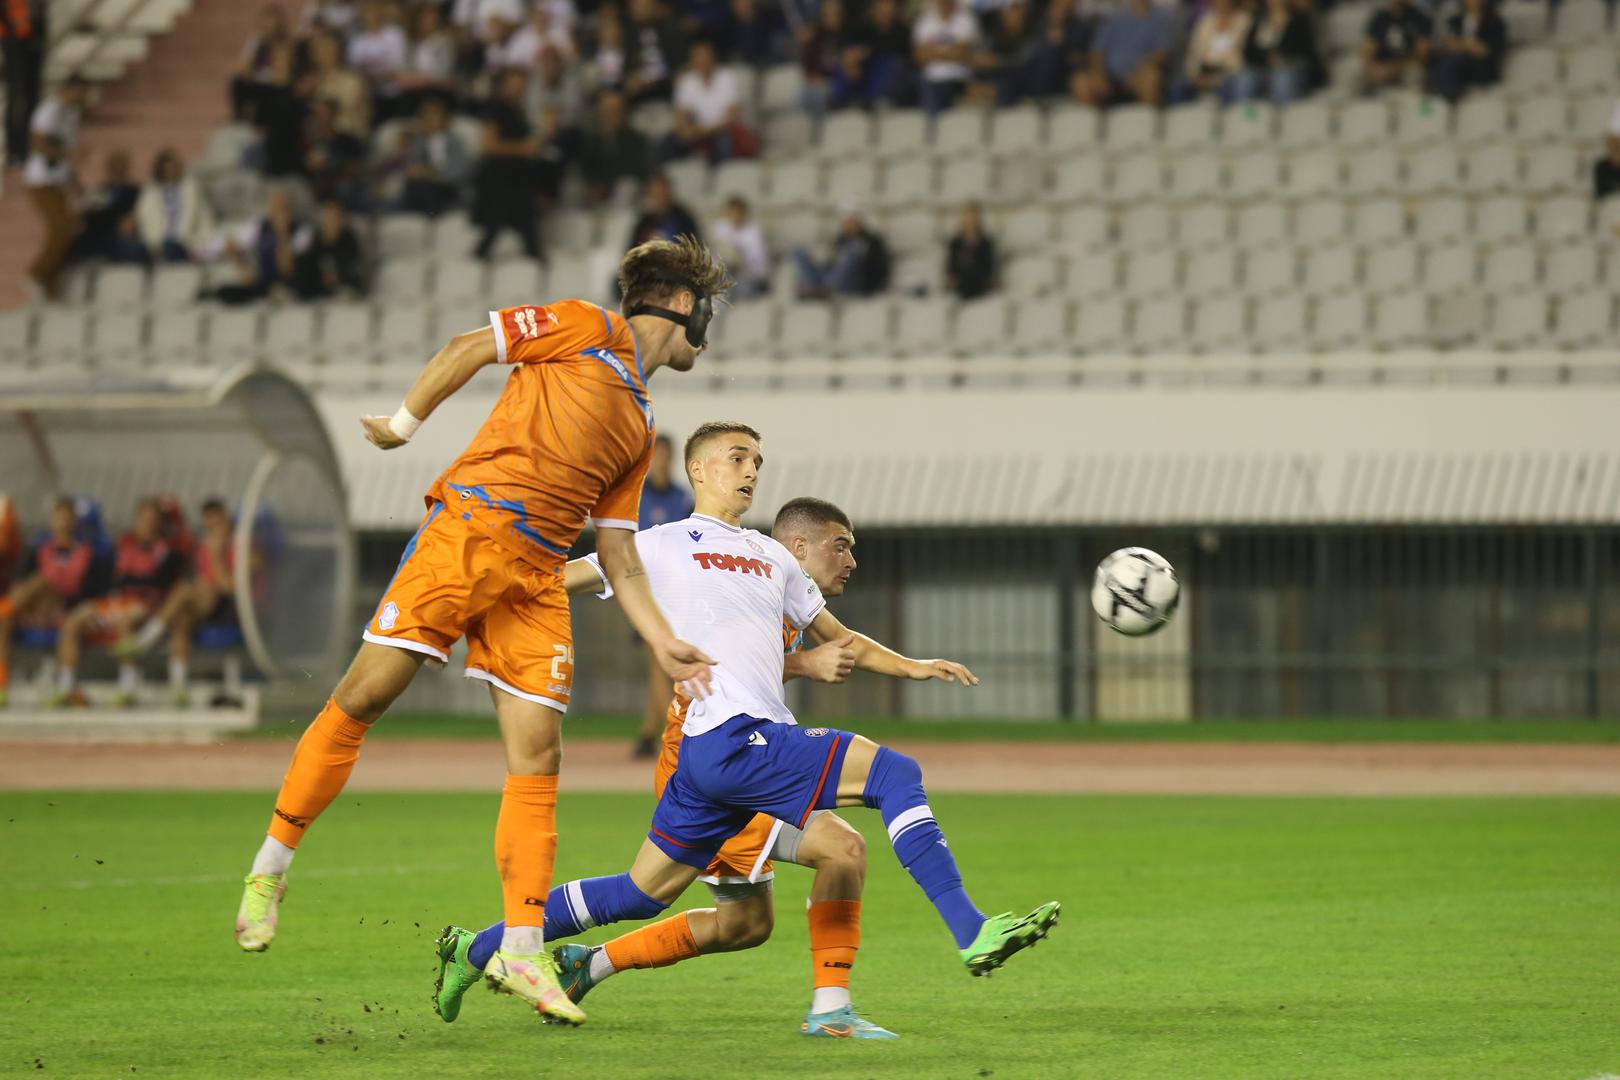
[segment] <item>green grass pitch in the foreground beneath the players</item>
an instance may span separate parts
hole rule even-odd
[[[262,795],[0,795],[0,1074],[32,1077],[1534,1077],[1620,1072],[1620,801],[940,797],[975,899],[1064,902],[988,980],[870,840],[855,1002],[799,1036],[808,873],[763,949],[614,978],[582,1030],[475,989],[434,933],[499,915],[494,797],[343,797],[264,955],[230,928]],[[559,881],[648,800],[564,795]],[[701,905],[701,887],[687,902]],[[606,934],[593,931],[590,941]]]

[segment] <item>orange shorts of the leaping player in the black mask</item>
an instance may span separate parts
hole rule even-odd
[[[573,688],[561,567],[541,568],[434,504],[366,623],[366,641],[441,662],[467,638],[467,677],[559,712]]]

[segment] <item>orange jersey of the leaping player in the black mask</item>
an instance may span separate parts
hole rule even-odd
[[[567,559],[585,520],[635,529],[653,406],[630,324],[582,300],[489,313],[515,371],[471,445],[428,492],[539,567]]]

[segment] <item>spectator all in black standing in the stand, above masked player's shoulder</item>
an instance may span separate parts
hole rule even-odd
[[[539,246],[539,207],[535,204],[539,139],[523,107],[526,92],[528,74],[522,70],[496,73],[494,96],[484,110],[473,194],[473,220],[483,228],[473,249],[480,259],[489,257],[502,230],[517,233],[528,257],[546,257]]]

